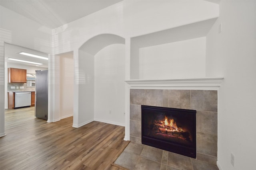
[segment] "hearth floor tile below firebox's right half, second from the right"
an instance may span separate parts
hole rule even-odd
[[[189,157],[172,152],[169,152],[168,154],[168,166],[180,170],[193,170]]]

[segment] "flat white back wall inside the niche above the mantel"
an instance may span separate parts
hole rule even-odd
[[[139,49],[140,79],[205,77],[206,37]]]

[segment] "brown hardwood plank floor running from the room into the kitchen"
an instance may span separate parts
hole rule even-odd
[[[74,128],[73,117],[46,123],[34,107],[6,109],[5,119],[1,170],[121,170],[111,164],[129,143],[122,126],[93,121]]]

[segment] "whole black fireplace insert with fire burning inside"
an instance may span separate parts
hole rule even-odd
[[[142,144],[196,158],[196,110],[141,106]]]

